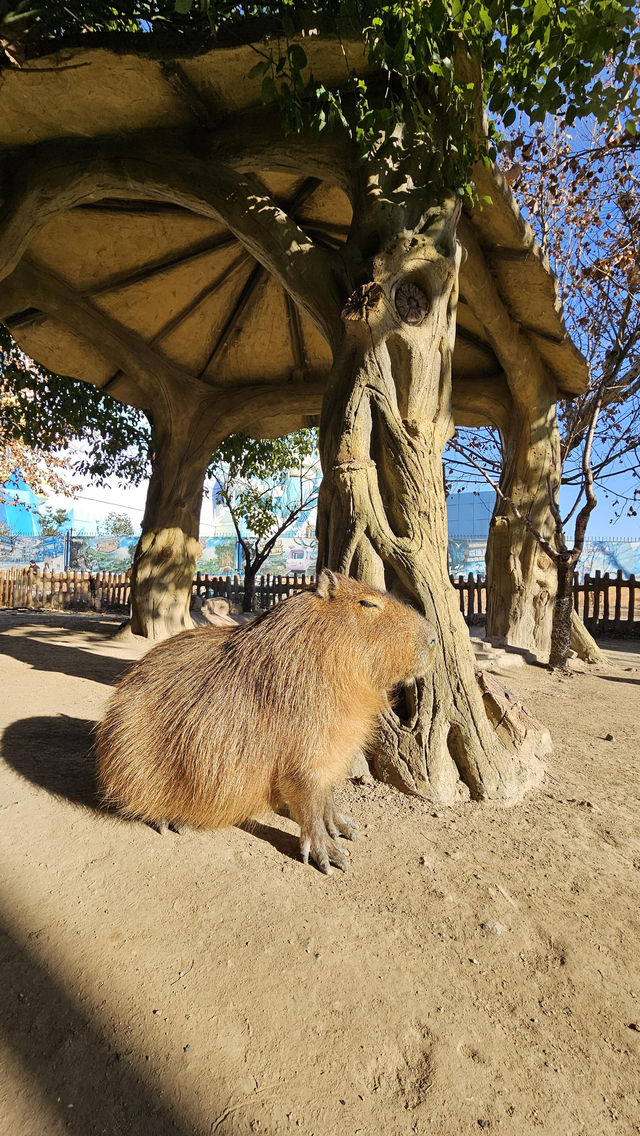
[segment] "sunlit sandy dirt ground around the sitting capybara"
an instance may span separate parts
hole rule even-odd
[[[0,613],[2,1136],[640,1133],[640,643],[513,671],[555,742],[515,807],[346,784],[327,878],[280,817],[97,810],[115,626]]]

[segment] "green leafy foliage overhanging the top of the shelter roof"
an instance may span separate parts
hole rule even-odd
[[[19,10],[25,2],[14,0],[11,8]],[[626,100],[631,120],[640,110],[637,0],[274,0],[242,6],[232,0],[51,0],[40,16],[39,34],[88,28],[143,34],[157,27],[165,37],[189,28],[201,30],[205,39],[259,17],[268,20],[272,39],[261,41],[257,32],[256,43],[264,47],[257,49],[260,58],[248,78],[260,81],[264,103],[280,108],[285,133],[338,127],[366,158],[381,133],[408,120],[444,156],[444,177],[454,189],[468,183],[475,158],[468,83],[459,81],[454,66],[458,52],[481,64],[483,102],[504,116],[507,127],[516,114],[533,123],[559,112],[570,122],[590,114],[605,120],[620,99]],[[361,35],[368,74],[350,72],[346,53],[338,82],[316,78],[309,67],[311,39],[301,37],[300,28],[318,27],[333,31],[336,42]],[[599,77],[605,60],[613,64],[615,94]]]

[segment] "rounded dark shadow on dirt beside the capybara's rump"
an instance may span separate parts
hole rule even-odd
[[[22,718],[2,734],[0,753],[20,777],[73,804],[98,810],[95,722],[85,718]]]

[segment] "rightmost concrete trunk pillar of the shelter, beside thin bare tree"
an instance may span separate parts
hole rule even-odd
[[[482,181],[483,172],[476,170],[476,177]],[[554,541],[554,510],[562,477],[558,384],[534,350],[523,321],[507,310],[468,223],[460,226],[460,236],[468,257],[465,294],[504,376],[498,396],[490,402],[485,399],[484,406],[479,402],[475,414],[473,399],[467,396],[464,420],[465,425],[493,426],[502,451],[500,492],[487,544],[487,635],[547,661],[558,591],[558,567],[543,548],[545,542]],[[554,284],[550,272],[547,278]],[[529,296],[527,302],[531,300]],[[539,334],[541,331],[539,327]],[[576,391],[565,387],[560,393]],[[598,645],[575,612],[572,646],[591,662],[601,659]]]

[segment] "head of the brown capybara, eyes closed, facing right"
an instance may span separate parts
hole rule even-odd
[[[350,576],[325,568],[318,576],[317,613],[344,643],[344,667],[385,690],[424,675],[433,665],[435,627],[415,608]]]

